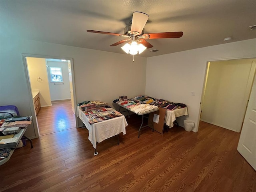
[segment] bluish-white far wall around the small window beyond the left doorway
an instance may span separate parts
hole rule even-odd
[[[51,100],[65,100],[71,99],[69,76],[68,76],[68,62],[56,62],[56,61],[46,61],[48,66],[48,76],[49,76],[49,88]],[[50,82],[50,67],[61,67],[62,68],[62,80],[63,82],[54,83]]]

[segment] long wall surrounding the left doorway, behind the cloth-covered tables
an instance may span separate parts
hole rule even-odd
[[[30,106],[28,84],[22,54],[39,54],[47,58],[73,58],[76,102],[109,102],[121,95],[145,94],[146,58],[116,54],[59,44],[0,36],[0,106],[16,105],[23,116],[36,117]],[[55,57],[54,57],[55,56]],[[82,123],[80,124],[80,126]],[[26,136],[37,136],[35,122]]]

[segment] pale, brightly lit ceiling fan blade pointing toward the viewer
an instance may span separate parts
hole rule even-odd
[[[146,13],[134,12],[132,15],[131,32],[137,35],[141,34],[147,20],[148,15]]]

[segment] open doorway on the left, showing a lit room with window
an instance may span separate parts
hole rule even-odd
[[[25,56],[39,136],[76,128],[72,61]]]

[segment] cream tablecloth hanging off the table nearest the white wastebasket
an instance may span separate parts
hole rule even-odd
[[[180,117],[183,115],[188,115],[188,109],[180,108],[180,109],[174,109],[174,110],[166,110],[165,115],[165,124],[169,127],[173,127],[173,122],[176,120],[176,117]]]

